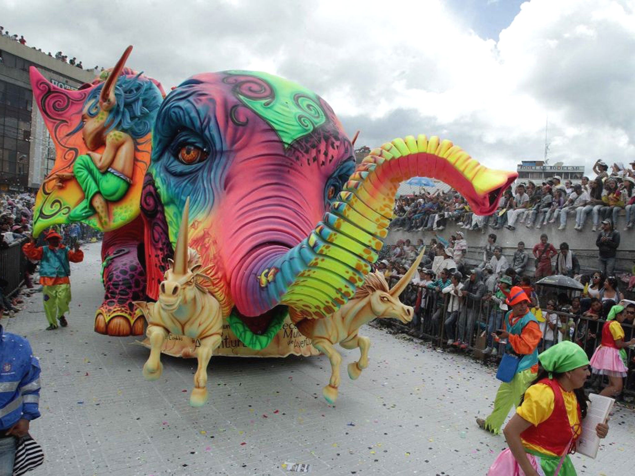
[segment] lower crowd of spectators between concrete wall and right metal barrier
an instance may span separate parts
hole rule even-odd
[[[606,229],[598,235],[599,259],[610,261],[601,256],[602,247],[615,251],[604,243],[612,242],[611,236],[617,232],[610,229],[608,220],[603,226]],[[577,340],[592,353],[600,337],[598,326],[601,323],[596,321],[606,319],[616,303],[624,303],[624,292],[634,290],[635,279],[626,285],[612,275],[612,270],[608,274],[602,270],[581,274],[578,258],[569,245],[561,242],[556,247],[546,234],[542,234],[540,241],[529,249],[523,241],[518,242],[513,256],[504,256],[496,241],[497,235],[489,234],[480,262],[471,260],[472,264],[465,260],[468,244],[461,231],[453,233],[448,242],[438,236],[427,243],[418,273],[403,296],[404,302],[415,307],[415,329],[432,336],[443,335],[446,345],[460,349],[472,348],[482,332],[485,336],[483,352],[496,354],[497,346],[490,333],[502,326],[507,310],[505,291],[512,286],[521,286],[531,298],[533,312],[540,316],[544,348],[561,340]],[[398,280],[423,249],[423,239],[417,239],[415,243],[410,239],[399,240],[384,246],[377,270],[389,281]],[[525,274],[530,260],[535,263],[535,276]],[[554,274],[575,279],[584,290],[573,299],[566,293],[549,291],[549,288],[540,289],[539,295],[535,282]],[[625,302],[632,323],[635,303]],[[546,309],[544,314],[541,308]]]

